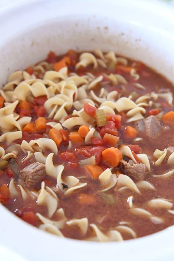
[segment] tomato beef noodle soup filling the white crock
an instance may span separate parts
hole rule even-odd
[[[174,224],[173,85],[114,52],[69,50],[0,90],[0,202],[58,236],[121,241]]]

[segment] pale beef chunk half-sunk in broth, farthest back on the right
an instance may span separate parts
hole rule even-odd
[[[155,116],[151,115],[146,119],[137,121],[136,129],[139,132],[145,132],[146,136],[154,139],[160,135],[162,125]]]

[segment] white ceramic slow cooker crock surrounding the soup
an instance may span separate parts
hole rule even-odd
[[[62,53],[69,48],[114,50],[144,61],[174,82],[173,28],[173,9],[158,1],[12,4],[0,9],[0,85],[12,71],[44,59],[49,50]],[[1,205],[0,224],[0,260],[174,259],[174,226],[121,243],[84,242],[40,231]]]

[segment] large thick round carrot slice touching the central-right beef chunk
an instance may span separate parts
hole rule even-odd
[[[117,167],[120,163],[120,160],[123,158],[122,153],[115,147],[104,150],[102,152],[102,157],[104,162],[113,167]]]

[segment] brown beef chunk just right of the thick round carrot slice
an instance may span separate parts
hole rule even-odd
[[[125,160],[120,161],[123,165],[124,170],[128,175],[135,178],[136,180],[144,180],[146,174],[148,173],[148,167],[143,163],[130,164]]]

